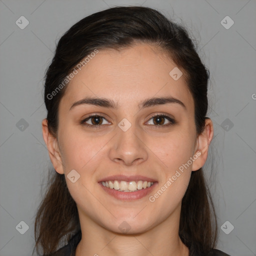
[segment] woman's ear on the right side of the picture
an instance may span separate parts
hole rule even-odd
[[[197,136],[194,155],[197,158],[192,163],[192,170],[198,170],[205,163],[208,155],[208,148],[213,137],[213,124],[210,118],[205,117],[205,126],[203,131]]]

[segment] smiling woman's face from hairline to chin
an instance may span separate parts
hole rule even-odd
[[[174,67],[146,44],[101,50],[67,85],[59,104],[59,159],[52,162],[65,174],[81,222],[138,233],[178,218],[191,171],[203,160],[193,98],[183,75],[170,76]],[[88,97],[116,108],[99,101],[74,104]],[[68,178],[71,170],[75,182]],[[139,189],[117,191],[100,182],[109,180],[116,189]]]

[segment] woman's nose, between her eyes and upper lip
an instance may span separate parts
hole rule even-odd
[[[116,130],[117,134],[111,140],[109,158],[124,165],[145,161],[148,152],[142,132],[139,133],[135,125],[131,125],[126,131],[117,126]]]

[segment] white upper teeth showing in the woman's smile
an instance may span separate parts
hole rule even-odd
[[[135,191],[137,189],[142,189],[142,188],[147,188],[151,186],[154,182],[149,182],[149,181],[118,181],[114,180],[113,182],[111,180],[108,181],[101,181],[103,186],[109,187],[109,188],[114,188],[115,190],[120,190],[120,191]]]

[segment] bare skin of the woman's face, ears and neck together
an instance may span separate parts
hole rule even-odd
[[[75,256],[188,256],[188,248],[178,236],[181,200],[191,171],[199,169],[207,158],[213,127],[206,119],[204,131],[196,134],[193,98],[184,77],[175,81],[169,75],[175,66],[163,52],[147,44],[121,51],[101,50],[67,85],[59,104],[56,137],[43,119],[43,138],[51,162],[58,173],[65,174],[78,209],[82,238]],[[73,102],[85,96],[112,99],[119,108],[83,104],[69,110]],[[179,99],[186,109],[167,103],[139,110],[138,104],[145,98],[163,96]],[[80,124],[92,113],[105,118],[101,127]],[[151,118],[156,113],[164,113],[176,123],[163,126],[170,122],[164,118],[164,124],[157,125]],[[131,123],[127,131],[117,125],[123,118]],[[92,119],[86,122],[92,124]],[[197,159],[150,202],[149,195],[196,152],[200,153]],[[66,177],[72,169],[80,174],[74,183]],[[144,175],[158,183],[148,196],[122,201],[97,183],[114,174]],[[127,233],[118,228],[123,221],[130,226]]]

